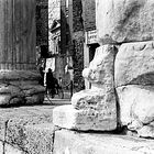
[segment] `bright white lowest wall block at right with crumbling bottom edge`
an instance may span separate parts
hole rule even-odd
[[[128,85],[117,91],[121,123],[139,136],[154,138],[154,87]]]

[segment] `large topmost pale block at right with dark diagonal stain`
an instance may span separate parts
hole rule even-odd
[[[101,44],[154,40],[153,0],[97,0],[96,3]]]

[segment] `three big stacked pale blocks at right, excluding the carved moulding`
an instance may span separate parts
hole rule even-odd
[[[153,14],[151,0],[97,0],[100,44],[120,44],[114,59],[119,122],[144,138],[154,138]]]

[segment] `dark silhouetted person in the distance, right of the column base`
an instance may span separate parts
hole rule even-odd
[[[58,81],[57,79],[53,76],[52,69],[48,68],[48,72],[46,73],[46,92],[48,91],[52,97],[54,98],[56,94],[56,89],[58,89]]]

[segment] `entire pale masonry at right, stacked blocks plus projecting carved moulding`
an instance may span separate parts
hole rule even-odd
[[[91,88],[53,111],[73,130],[112,131],[118,124],[154,138],[154,1],[97,0],[100,46],[82,76]]]

